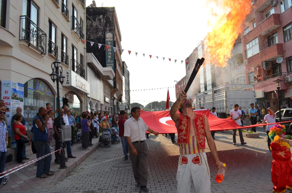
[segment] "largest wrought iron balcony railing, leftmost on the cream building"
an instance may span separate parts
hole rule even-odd
[[[29,46],[46,54],[47,34],[26,15],[20,16],[19,41],[26,41]]]

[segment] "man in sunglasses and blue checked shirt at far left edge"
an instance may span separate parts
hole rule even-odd
[[[6,156],[7,156],[7,145],[8,145],[8,131],[6,129],[6,123],[3,120],[6,117],[6,113],[0,110],[0,173],[4,172]],[[5,174],[1,174],[3,176]],[[3,185],[8,182],[9,175],[4,178],[0,178],[0,185],[3,179]]]

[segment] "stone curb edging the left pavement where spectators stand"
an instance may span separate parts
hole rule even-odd
[[[50,182],[50,184],[55,185],[58,183],[62,178],[67,176],[68,173],[70,173],[76,166],[78,166],[84,159],[86,159],[89,155],[91,155],[97,148],[100,147],[100,142],[98,142],[96,145],[92,146],[90,151],[88,151],[85,155],[80,157],[78,160],[73,162],[70,166],[67,165],[67,168],[65,169],[57,169],[52,171],[52,173],[56,173],[59,171],[59,173],[55,176],[55,178]]]

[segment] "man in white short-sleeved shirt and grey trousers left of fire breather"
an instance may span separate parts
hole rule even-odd
[[[140,187],[142,191],[148,191],[148,167],[147,156],[148,147],[145,142],[145,132],[149,131],[158,136],[158,132],[150,129],[144,120],[140,118],[140,107],[133,107],[131,109],[132,117],[126,120],[124,127],[124,136],[129,145],[130,159],[132,162],[134,178],[137,183],[137,187]]]

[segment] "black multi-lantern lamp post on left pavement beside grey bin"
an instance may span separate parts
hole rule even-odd
[[[60,110],[60,89],[59,89],[59,82],[61,85],[63,85],[65,81],[65,76],[62,74],[63,69],[62,66],[60,66],[61,62],[56,58],[55,62],[51,64],[51,68],[53,72],[50,74],[51,79],[53,80],[53,83],[55,83],[55,80],[57,80],[57,100],[58,100],[58,117],[59,117],[59,123],[58,126],[61,127],[61,110]],[[60,76],[59,76],[59,68],[60,69]],[[60,128],[61,129],[61,128]],[[60,130],[60,147],[61,147],[61,156],[60,156],[60,168],[67,168],[66,163],[65,163],[65,152],[64,152],[64,147],[63,147],[63,139],[62,139],[62,129]]]

